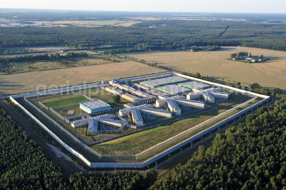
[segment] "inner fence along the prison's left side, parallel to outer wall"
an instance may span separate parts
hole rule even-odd
[[[90,153],[92,153],[93,155],[96,155],[98,158],[101,158],[101,154],[94,151],[93,149],[91,149],[90,147],[88,147],[87,145],[85,145],[82,141],[80,141],[79,139],[77,139],[76,137],[74,137],[74,135],[72,135],[72,133],[70,133],[69,131],[67,131],[65,128],[63,128],[61,125],[59,125],[57,122],[55,122],[53,119],[51,119],[47,114],[45,114],[42,110],[40,110],[37,106],[35,106],[34,104],[32,104],[29,100],[26,99],[26,97],[24,97],[24,100],[26,103],[28,103],[31,107],[33,107],[34,109],[36,109],[39,113],[41,113],[46,119],[48,119],[49,121],[51,121],[56,127],[58,127],[59,129],[61,129],[61,131],[63,131],[67,136],[69,136],[71,139],[73,139],[75,142],[77,142],[78,144],[80,144],[84,149],[86,149],[87,151],[89,151]]]

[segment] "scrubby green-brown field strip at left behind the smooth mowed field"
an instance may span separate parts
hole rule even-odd
[[[119,61],[118,58],[116,58],[116,60]],[[89,58],[77,57],[72,59],[59,59],[58,61],[42,60],[42,61],[15,62],[12,63],[12,65],[8,63],[0,63],[0,75],[11,74],[11,73],[24,73],[31,71],[45,71],[50,69],[63,69],[63,68],[80,67],[87,65],[99,65],[106,63],[113,63],[113,61],[100,59],[100,57],[99,59],[97,57],[89,57]],[[6,73],[6,71],[9,72]]]

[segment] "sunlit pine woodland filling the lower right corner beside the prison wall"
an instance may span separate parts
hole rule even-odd
[[[217,134],[152,189],[286,189],[286,97]]]

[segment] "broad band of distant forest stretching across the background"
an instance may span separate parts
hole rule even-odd
[[[151,27],[150,27],[151,26]],[[143,21],[130,27],[0,27],[0,45],[69,47],[137,45],[156,49],[190,45],[246,46],[286,51],[286,25],[231,21]]]

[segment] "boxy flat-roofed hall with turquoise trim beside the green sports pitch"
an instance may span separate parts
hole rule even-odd
[[[87,113],[92,113],[96,111],[106,111],[111,109],[111,106],[99,99],[95,99],[93,101],[80,103],[80,109]]]

